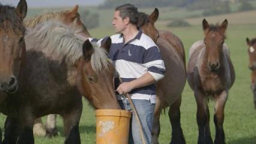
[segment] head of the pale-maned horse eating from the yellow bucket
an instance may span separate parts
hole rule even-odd
[[[114,93],[115,68],[108,59],[111,38],[101,45],[84,42],[78,65],[78,87],[96,109],[119,109]]]

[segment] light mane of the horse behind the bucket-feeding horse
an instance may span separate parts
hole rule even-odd
[[[24,20],[24,24],[29,28],[34,28],[38,23],[45,22],[50,19],[60,19],[67,12],[69,12],[69,10],[47,12],[38,16],[29,17]]]

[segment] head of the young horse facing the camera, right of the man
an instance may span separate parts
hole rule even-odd
[[[217,72],[221,67],[220,61],[223,54],[222,48],[227,27],[227,19],[221,25],[209,25],[206,19],[203,20],[204,44],[206,46],[208,69],[212,72]]]

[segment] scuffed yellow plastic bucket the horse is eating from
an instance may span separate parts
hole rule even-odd
[[[127,144],[130,116],[128,110],[96,110],[96,144]]]

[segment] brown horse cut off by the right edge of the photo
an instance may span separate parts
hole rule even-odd
[[[256,109],[256,38],[252,40],[246,38],[246,43],[248,44],[249,68],[252,70],[251,89],[254,94],[254,108]]]

